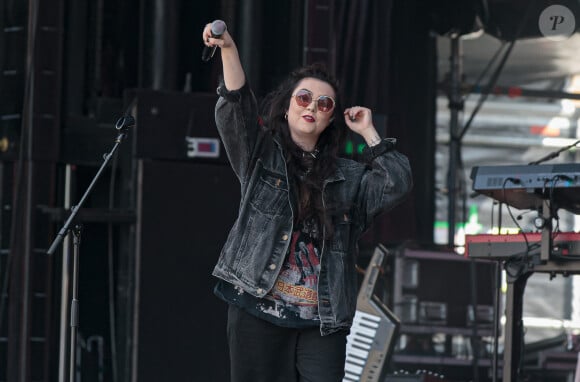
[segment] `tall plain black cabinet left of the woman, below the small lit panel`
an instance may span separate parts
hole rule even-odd
[[[229,381],[211,276],[239,205],[229,166],[139,160],[134,381]]]

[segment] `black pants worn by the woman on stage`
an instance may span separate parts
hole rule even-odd
[[[227,330],[231,382],[342,381],[346,331],[283,328],[232,305]]]

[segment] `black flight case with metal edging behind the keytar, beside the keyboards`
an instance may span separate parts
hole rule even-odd
[[[469,334],[477,325],[490,334],[496,279],[495,263],[403,246],[395,261],[395,314],[403,325],[433,332],[451,327]]]

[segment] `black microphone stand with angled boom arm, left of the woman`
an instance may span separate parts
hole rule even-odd
[[[50,248],[46,252],[48,255],[52,255],[63,239],[68,235],[70,231],[70,225],[73,222],[74,218],[78,214],[79,210],[81,209],[82,205],[84,204],[85,200],[91,193],[93,187],[97,183],[97,180],[101,176],[101,173],[117,151],[117,148],[123,142],[123,140],[127,136],[127,132],[129,127],[135,125],[135,119],[128,115],[125,117],[119,118],[117,121],[115,128],[119,131],[117,137],[115,138],[115,144],[111,151],[104,155],[104,161],[95,177],[87,187],[84,195],[82,196],[81,200],[78,202],[76,206],[71,208],[71,214],[58,232],[57,236],[54,238]],[[72,299],[70,305],[70,327],[71,327],[71,337],[70,337],[70,358],[69,358],[69,382],[74,382],[74,373],[75,373],[75,362],[76,362],[76,343],[77,343],[77,333],[78,333],[78,323],[79,323],[79,301],[78,301],[78,273],[79,273],[79,253],[80,253],[80,242],[81,242],[81,225],[76,224],[73,230],[74,241],[73,241],[73,285],[72,285]]]

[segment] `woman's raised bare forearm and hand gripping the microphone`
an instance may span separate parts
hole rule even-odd
[[[220,38],[213,38],[211,23],[203,29],[203,42],[206,46],[218,46],[221,50],[224,83],[228,90],[238,90],[246,83],[246,75],[242,68],[236,43],[226,30]]]

